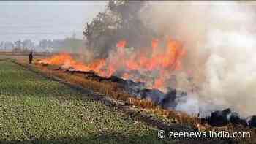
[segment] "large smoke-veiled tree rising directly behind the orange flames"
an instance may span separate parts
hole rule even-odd
[[[119,40],[125,39],[128,46],[145,47],[155,36],[139,18],[140,10],[147,1],[109,1],[105,12],[99,12],[86,23],[84,36],[87,46],[99,55],[107,57],[108,50]]]

